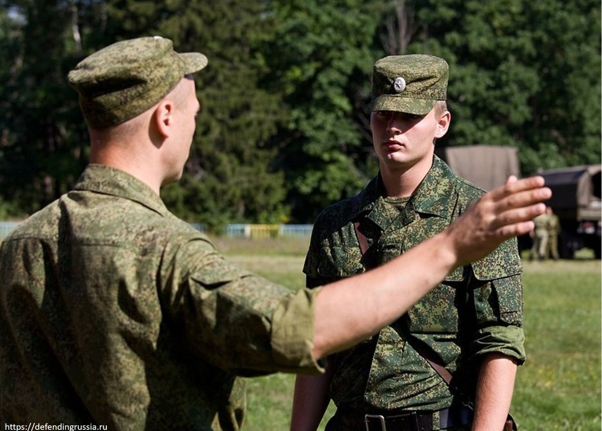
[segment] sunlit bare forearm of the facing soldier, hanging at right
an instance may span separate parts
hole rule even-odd
[[[472,431],[502,430],[512,402],[517,364],[513,358],[489,353],[477,381]]]

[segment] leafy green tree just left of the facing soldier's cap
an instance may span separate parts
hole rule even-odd
[[[276,37],[268,41],[268,85],[282,91],[290,116],[274,138],[296,221],[312,222],[332,201],[367,180],[365,140],[353,123],[370,98],[377,21],[359,0],[274,1]],[[358,103],[358,101],[360,101]]]

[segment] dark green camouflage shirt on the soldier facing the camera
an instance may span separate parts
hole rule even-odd
[[[318,216],[303,270],[308,287],[391,260],[444,230],[482,193],[437,157],[402,209],[382,197],[376,177],[359,195]],[[369,245],[364,255],[356,221]],[[330,358],[334,402],[339,408],[367,412],[450,406],[453,396],[447,384],[415,350],[417,343],[435,351],[465,393],[474,391],[478,359],[484,353],[501,352],[523,362],[521,271],[515,240],[452,271],[399,320]]]

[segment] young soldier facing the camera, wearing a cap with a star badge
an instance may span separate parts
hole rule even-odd
[[[358,195],[318,216],[303,269],[308,287],[407,252],[483,194],[433,154],[450,124],[447,80],[441,58],[376,62],[371,130],[380,171]],[[297,377],[291,429],[315,431],[329,398],[337,412],[327,431],[470,429],[472,412],[461,399],[470,397],[473,429],[501,430],[525,359],[522,301],[512,240],[450,272],[379,334],[331,356],[323,376]],[[425,350],[453,373],[458,391],[427,362]]]

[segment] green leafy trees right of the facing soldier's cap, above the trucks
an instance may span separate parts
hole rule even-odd
[[[411,52],[450,63],[441,144],[512,145],[524,173],[600,162],[600,5],[429,1]]]

